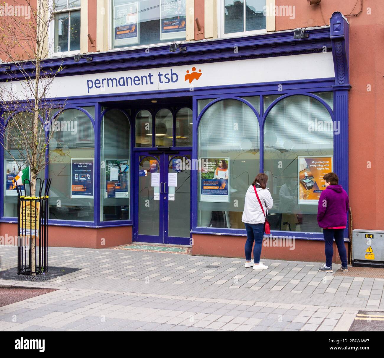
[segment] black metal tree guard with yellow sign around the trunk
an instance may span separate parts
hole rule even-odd
[[[40,181],[40,186],[37,183]],[[29,193],[27,196],[27,186]],[[45,190],[43,187],[45,184]],[[17,190],[17,273],[40,275],[48,273],[48,192],[51,179],[36,179],[36,194],[31,196],[31,182],[25,179]],[[37,190],[39,189],[39,191]],[[42,195],[43,194],[43,195]]]

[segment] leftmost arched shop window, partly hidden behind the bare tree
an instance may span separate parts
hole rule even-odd
[[[7,118],[7,116],[5,116]],[[22,134],[27,134],[27,143],[32,139],[31,121],[33,117],[30,113],[20,112],[9,119],[5,129],[5,146],[7,150],[4,151],[4,216],[17,217],[17,191],[13,188],[13,179],[17,174],[28,166],[23,158],[27,158],[25,149],[25,140]],[[17,127],[25,123],[25,127],[20,131]],[[45,146],[45,133],[44,128],[41,127],[41,122],[38,122],[37,131],[40,135],[39,143],[40,149],[44,151]],[[45,177],[44,169],[38,174],[38,178],[43,180]],[[31,178],[31,175],[30,175]],[[37,185],[40,185],[38,180]],[[27,189],[29,194],[29,189]]]

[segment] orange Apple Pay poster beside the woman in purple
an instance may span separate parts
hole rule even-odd
[[[332,171],[332,156],[298,156],[298,204],[318,204],[323,177]]]

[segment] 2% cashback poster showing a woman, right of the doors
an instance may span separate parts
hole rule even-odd
[[[229,158],[201,158],[200,201],[229,202]]]

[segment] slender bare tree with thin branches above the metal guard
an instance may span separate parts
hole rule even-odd
[[[0,17],[0,66],[8,76],[6,82],[0,83],[4,119],[0,142],[18,170],[23,164],[30,167],[31,195],[35,196],[38,174],[55,161],[54,156],[46,156],[54,130],[46,130],[53,128],[55,120],[48,119],[59,110],[50,89],[63,66],[61,62],[53,68],[44,60],[52,45],[49,27],[55,20],[56,5],[50,0],[24,0],[11,6],[13,15],[6,9],[8,14]],[[63,103],[60,107],[64,107]]]

